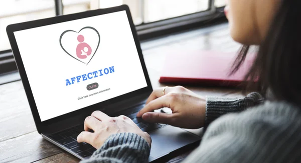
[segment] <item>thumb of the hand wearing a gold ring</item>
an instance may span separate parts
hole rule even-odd
[[[173,124],[174,116],[177,114],[168,114],[162,112],[146,112],[142,115],[142,119],[150,123]]]

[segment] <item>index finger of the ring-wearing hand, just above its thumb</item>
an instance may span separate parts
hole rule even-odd
[[[164,95],[147,103],[138,113],[137,117],[141,117],[143,113],[154,111],[162,107],[170,107],[168,96]]]

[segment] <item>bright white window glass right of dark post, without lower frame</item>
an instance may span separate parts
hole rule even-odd
[[[216,0],[223,6],[224,0]],[[130,7],[136,25],[196,13],[209,9],[210,0],[63,0],[64,14],[121,4]]]

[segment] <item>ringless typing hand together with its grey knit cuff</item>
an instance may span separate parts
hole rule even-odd
[[[94,132],[90,132],[92,129]],[[84,162],[147,162],[152,139],[129,117],[110,117],[101,111],[86,117],[78,142],[87,142],[97,150]]]

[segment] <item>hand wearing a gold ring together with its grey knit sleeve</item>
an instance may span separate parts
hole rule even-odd
[[[208,96],[206,99],[183,86],[161,87],[150,94],[145,107],[137,116],[148,122],[165,123],[182,128],[206,128],[210,122],[223,114],[239,112],[263,101],[263,97],[257,92],[252,92],[246,97]],[[162,107],[171,108],[173,113],[153,112]]]

